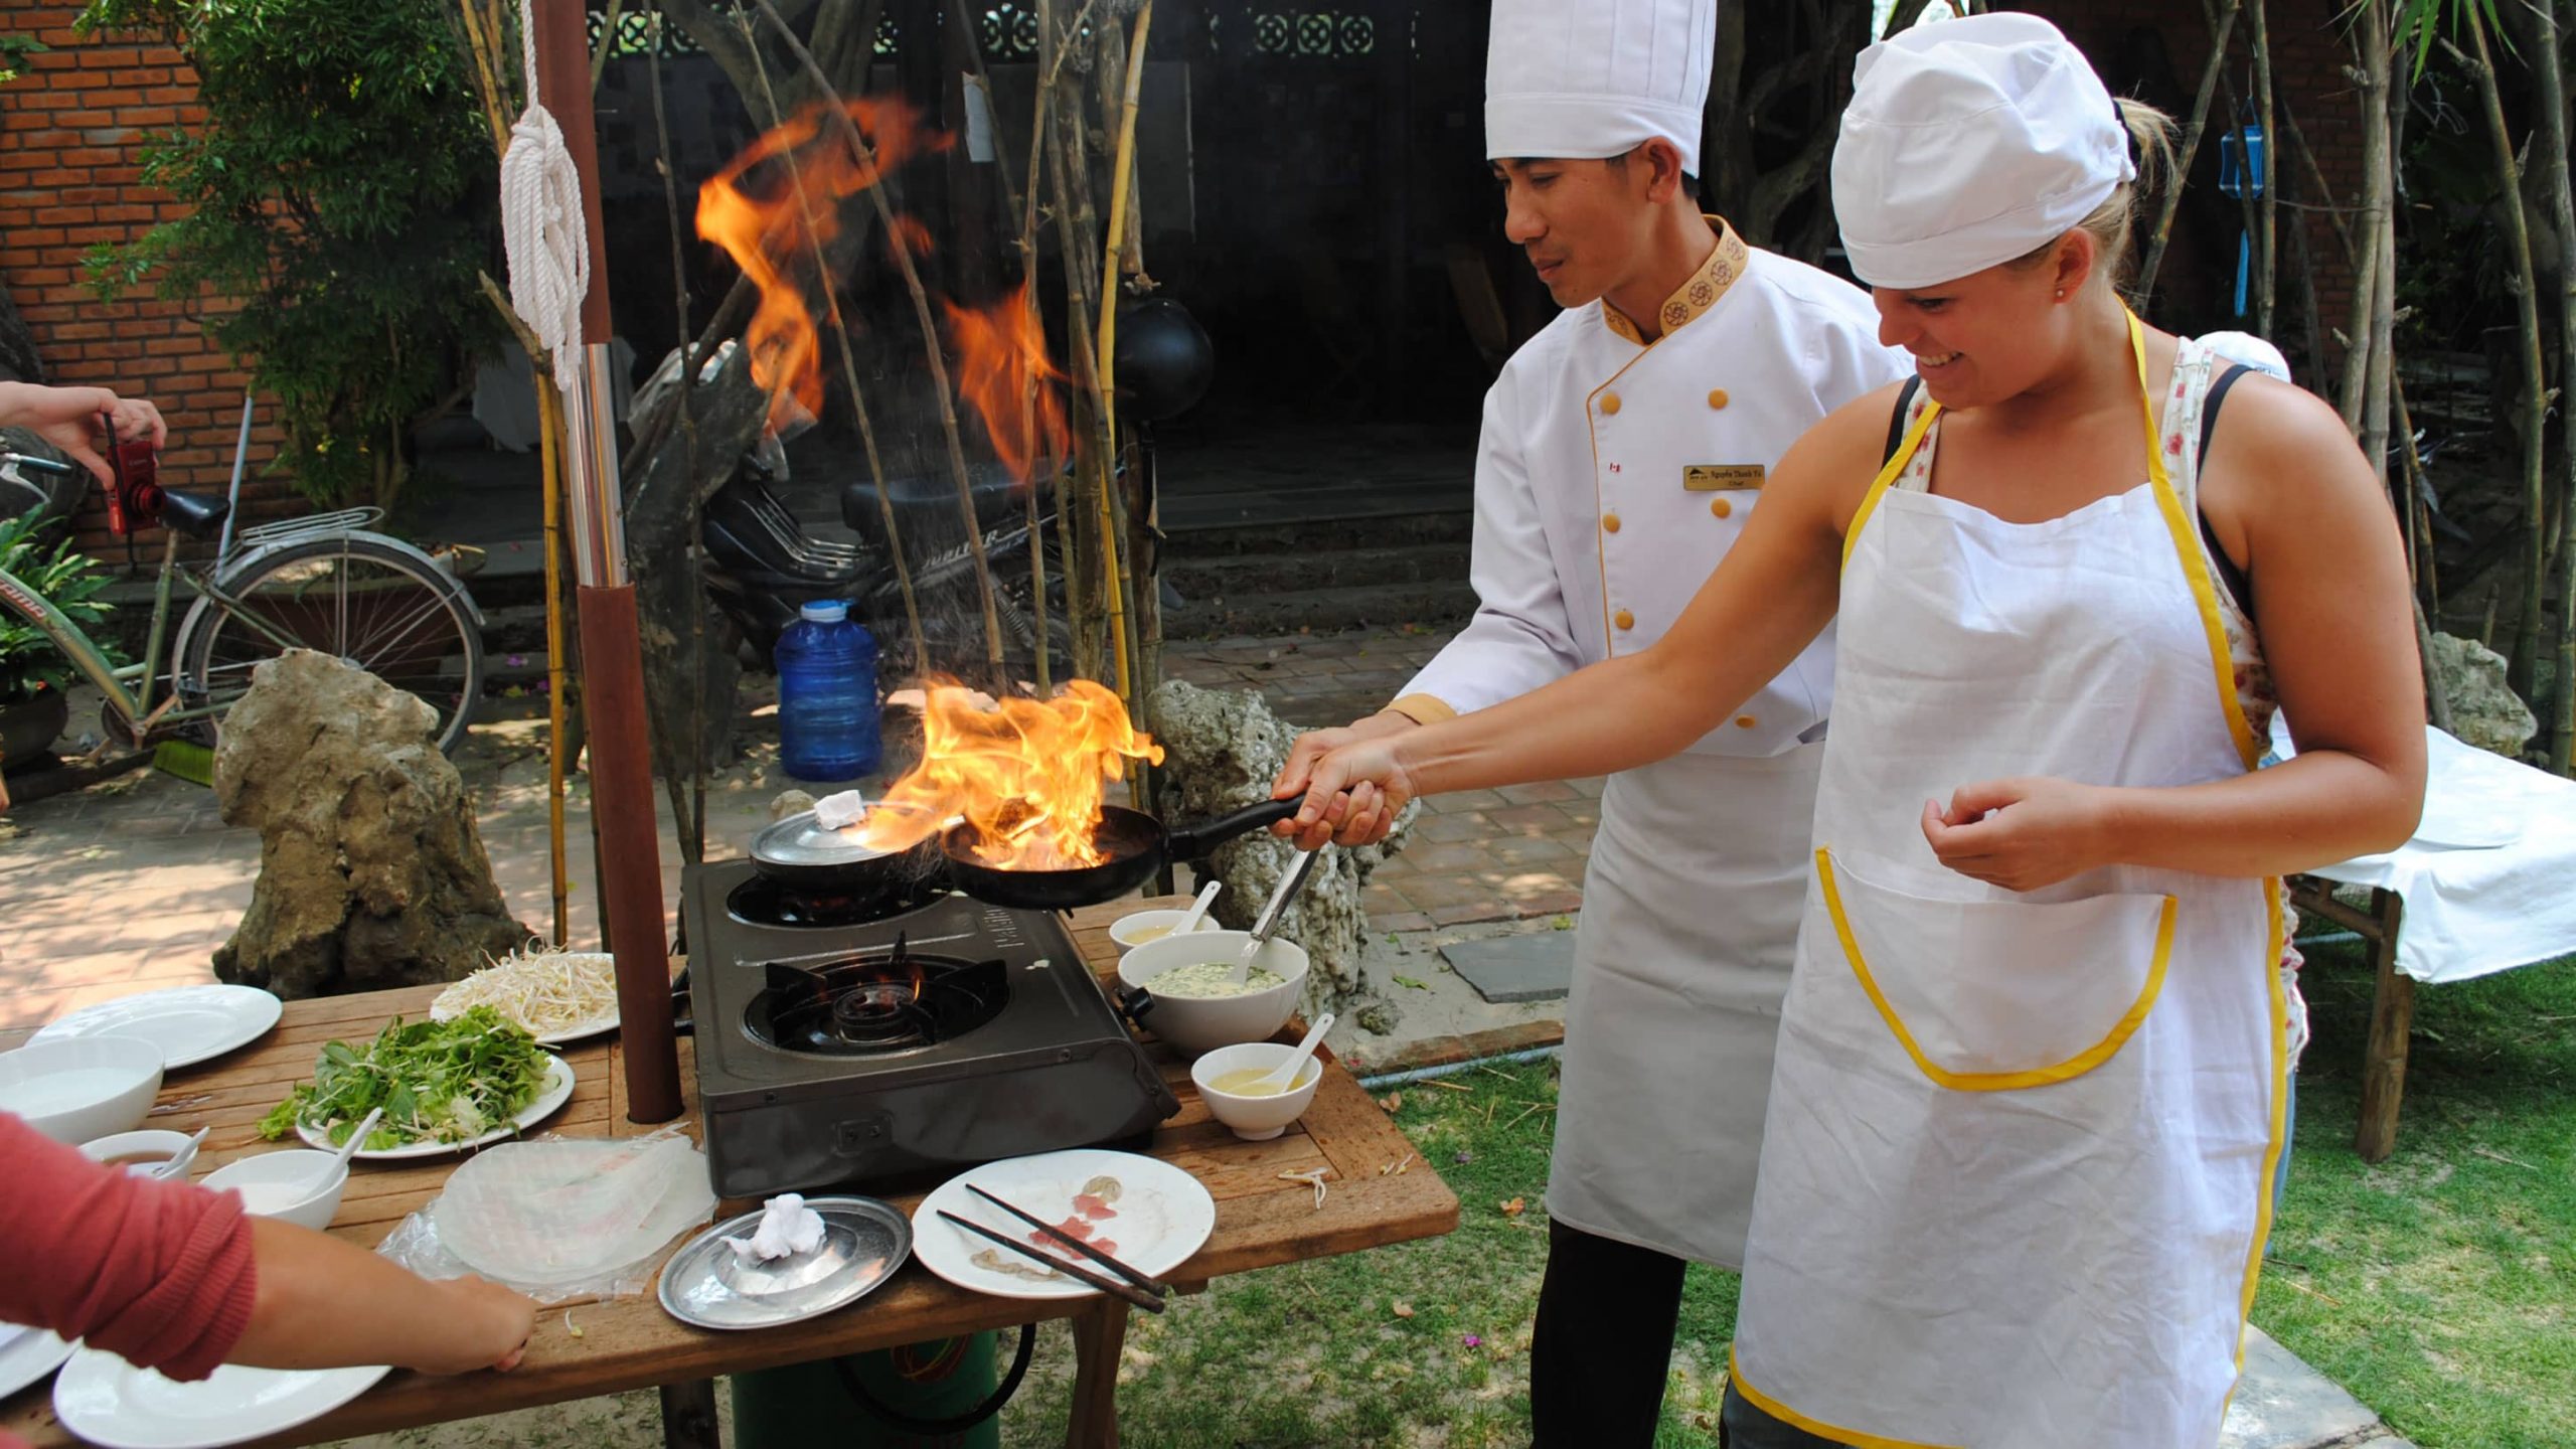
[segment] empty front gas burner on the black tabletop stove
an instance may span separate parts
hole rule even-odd
[[[757,1042],[822,1057],[873,1057],[953,1042],[1002,1013],[1010,1000],[999,959],[961,962],[855,951],[822,964],[768,962],[768,987],[742,1021]]]

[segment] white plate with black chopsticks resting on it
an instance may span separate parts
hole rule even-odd
[[[1084,1214],[1074,1204],[1074,1194],[1095,1178],[1118,1183],[1115,1201],[1108,1201],[1110,1217]],[[1074,1147],[1072,1152],[987,1163],[948,1178],[912,1209],[912,1256],[951,1284],[994,1297],[1056,1299],[1100,1289],[1064,1274],[1048,1274],[1033,1258],[997,1248],[943,1220],[940,1209],[948,1209],[1020,1243],[1043,1238],[1036,1227],[966,1191],[966,1183],[1054,1225],[1084,1217],[1092,1225],[1092,1243],[1103,1253],[1154,1279],[1188,1263],[1190,1253],[1198,1253],[1208,1232],[1216,1230],[1216,1199],[1208,1196],[1208,1189],[1157,1158]],[[1084,1269],[1108,1271],[1072,1248],[1064,1248],[1064,1256]]]

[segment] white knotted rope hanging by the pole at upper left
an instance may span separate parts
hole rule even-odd
[[[582,178],[572,170],[564,131],[536,98],[536,15],[528,0],[518,0],[518,39],[528,108],[510,126],[510,150],[500,157],[500,237],[510,255],[510,307],[554,356],[554,384],[569,389],[582,358],[582,294],[590,291]]]

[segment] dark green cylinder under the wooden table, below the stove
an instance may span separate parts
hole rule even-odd
[[[974,1413],[994,1387],[994,1336],[935,1338],[878,1354],[850,1354],[786,1369],[734,1374],[734,1449],[811,1449],[855,1444],[863,1449],[1002,1449],[1002,1415],[956,1434],[920,1434],[868,1413],[842,1379],[842,1369],[868,1395],[917,1421]]]

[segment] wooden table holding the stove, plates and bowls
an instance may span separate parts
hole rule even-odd
[[[1113,969],[1118,946],[1108,938],[1108,923],[1128,910],[1154,905],[1185,905],[1185,900],[1126,900],[1077,913],[1072,928],[1084,959],[1100,972]],[[240,1155],[270,1150],[258,1137],[258,1122],[294,1083],[312,1073],[322,1042],[374,1036],[394,1013],[425,1013],[438,987],[412,987],[289,1003],[283,1021],[258,1044],[204,1067],[173,1073],[162,1083],[152,1127],[193,1132],[211,1124],[214,1132],[206,1137],[198,1173]],[[1280,1039],[1293,1039],[1291,1031],[1283,1031]],[[21,1036],[26,1034],[0,1034],[0,1049],[15,1047]],[[1458,1196],[1427,1163],[1417,1158],[1401,1173],[1381,1171],[1404,1160],[1412,1145],[1386,1111],[1360,1091],[1350,1070],[1329,1060],[1329,1052],[1319,1052],[1327,1057],[1324,1083],[1306,1116],[1278,1140],[1242,1142],[1208,1116],[1190,1085],[1188,1062],[1170,1047],[1151,1044],[1149,1049],[1180,1098],[1180,1114],[1154,1129],[1149,1150],[1195,1176],[1216,1196],[1216,1232],[1198,1256],[1167,1274],[1175,1284],[1195,1289],[1218,1274],[1435,1238],[1458,1225]],[[626,1122],[626,1083],[613,1039],[572,1047],[564,1057],[574,1067],[572,1101],[536,1132],[564,1137],[652,1132],[652,1124]],[[680,1088],[683,1122],[696,1132],[698,1075],[688,1039],[680,1042]],[[374,1248],[410,1212],[438,1196],[453,1168],[456,1158],[404,1165],[358,1163],[332,1232]],[[1332,1173],[1324,1207],[1314,1204],[1311,1186],[1280,1181],[1280,1173],[1311,1168]],[[871,1183],[878,1196],[904,1212],[912,1212],[933,1186],[938,1186],[935,1176],[909,1183]],[[726,1201],[716,1212],[732,1214],[752,1207],[757,1201]],[[662,1312],[649,1292],[590,1302],[574,1318],[582,1325],[580,1338],[564,1330],[564,1310],[549,1307],[538,1318],[526,1364],[510,1374],[479,1372],[461,1379],[430,1379],[397,1369],[340,1410],[265,1444],[314,1444],[654,1385],[685,1385],[742,1369],[1015,1328],[1043,1318],[1074,1320],[1072,1444],[1118,1444],[1113,1395],[1128,1307],[1103,1294],[1054,1302],[997,1299],[951,1287],[914,1261],[866,1299],[783,1328],[747,1333],[690,1328]],[[52,1379],[0,1400],[0,1428],[36,1446],[80,1444],[54,1421]],[[665,1434],[680,1434],[680,1426],[667,1421]]]

